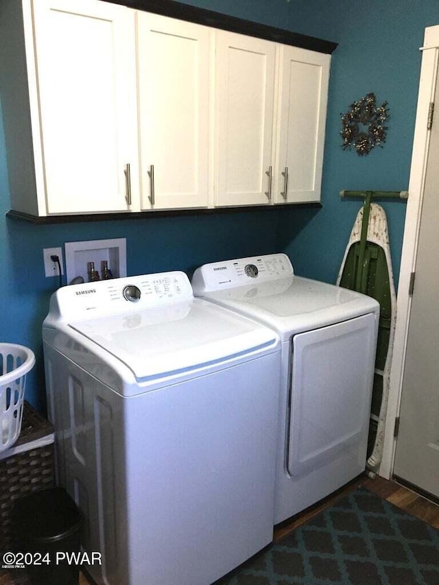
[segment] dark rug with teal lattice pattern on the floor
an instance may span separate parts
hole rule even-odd
[[[360,488],[215,585],[439,585],[439,531]]]

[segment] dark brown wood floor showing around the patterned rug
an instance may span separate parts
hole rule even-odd
[[[435,503],[421,497],[420,495],[400,486],[395,481],[388,481],[387,479],[383,479],[382,477],[376,476],[375,478],[367,477],[366,475],[359,477],[357,480],[351,482],[345,488],[338,490],[335,494],[325,498],[320,503],[312,506],[305,512],[297,514],[289,521],[285,521],[281,525],[276,526],[274,531],[274,540],[279,540],[283,538],[289,532],[296,529],[298,526],[304,524],[312,518],[319,514],[324,508],[327,508],[331,505],[335,499],[340,497],[344,497],[344,495],[348,494],[349,492],[355,490],[359,486],[364,486],[375,492],[377,495],[392,502],[394,505],[398,506],[405,512],[412,514],[412,516],[416,516],[416,518],[420,518],[427,524],[434,526],[439,529],[439,506]],[[0,575],[0,585],[12,585],[14,583],[13,580],[10,579],[8,574]],[[85,575],[80,575],[80,584],[79,585],[90,585]]]

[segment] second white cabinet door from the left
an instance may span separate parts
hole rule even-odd
[[[207,206],[211,32],[137,13],[141,204]]]

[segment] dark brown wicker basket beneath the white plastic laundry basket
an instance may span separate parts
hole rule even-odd
[[[0,551],[5,551],[12,544],[14,501],[55,485],[54,427],[25,401],[20,436],[0,455]]]

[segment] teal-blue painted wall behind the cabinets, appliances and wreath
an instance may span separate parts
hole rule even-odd
[[[232,16],[340,43],[333,55],[321,210],[163,217],[34,226],[5,217],[10,208],[0,115],[0,342],[34,350],[26,398],[45,409],[40,329],[56,278],[45,278],[43,248],[66,241],[126,237],[128,274],[185,270],[207,261],[285,250],[296,272],[333,282],[359,202],[340,189],[406,189],[423,29],[439,22],[437,0],[187,0]],[[369,156],[342,152],[340,113],[365,93],[389,102],[388,142]],[[0,95],[1,104],[1,95]],[[1,112],[0,112],[1,114]],[[401,254],[404,204],[385,203],[392,254]],[[397,272],[397,270],[396,270]]]

